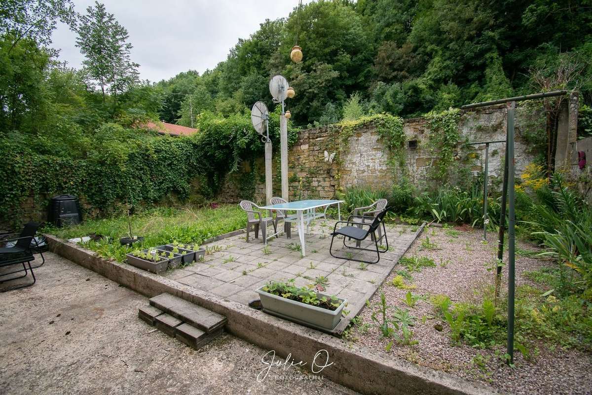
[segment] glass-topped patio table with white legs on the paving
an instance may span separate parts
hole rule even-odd
[[[284,216],[284,221],[296,223],[298,228],[298,236],[300,237],[302,256],[305,256],[306,251],[304,247],[304,223],[306,222],[308,226],[308,223],[310,223],[310,221],[314,219],[324,218],[326,220],[327,208],[329,208],[329,206],[333,204],[337,204],[337,215],[339,216],[339,220],[341,220],[341,208],[339,207],[340,203],[345,203],[345,200],[298,200],[291,201],[289,203],[263,205],[259,208],[264,208],[265,210],[296,211],[295,216]],[[323,212],[317,213],[317,208],[321,207],[324,207]]]

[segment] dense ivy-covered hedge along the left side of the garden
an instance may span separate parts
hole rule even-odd
[[[0,139],[0,221],[17,224],[21,204],[33,195],[46,205],[55,194],[81,197],[91,210],[112,213],[120,201],[157,203],[186,200],[192,192],[211,198],[229,172],[263,152],[247,113],[222,118],[198,115],[199,133],[156,136],[153,131],[104,123],[89,136],[74,130],[56,134],[15,133]],[[279,143],[279,114],[271,114],[269,132]],[[288,143],[298,137],[289,128]]]

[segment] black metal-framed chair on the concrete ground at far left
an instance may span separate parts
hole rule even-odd
[[[2,292],[28,287],[30,285],[35,284],[35,282],[37,281],[35,278],[35,274],[33,273],[33,267],[39,267],[45,263],[43,253],[41,252],[37,240],[35,239],[35,234],[37,233],[38,228],[39,224],[31,221],[25,224],[25,227],[22,229],[22,232],[18,237],[15,237],[14,239],[2,240],[2,242],[4,243],[14,242],[14,245],[9,247],[0,247],[0,268],[4,268],[6,266],[11,265],[22,265],[22,269],[18,269],[8,273],[0,273],[0,278],[11,274],[20,273],[22,271],[24,271],[24,274],[19,277],[11,277],[7,280],[0,280],[0,283],[27,277],[28,271],[31,271],[31,276],[33,277],[33,282],[31,282],[31,284],[24,284],[12,288],[7,288],[5,290],[2,290]],[[33,256],[34,252],[38,252],[41,255],[40,265],[31,266],[31,261],[35,260],[35,257]],[[28,269],[27,266],[25,266],[25,264],[28,265]]]

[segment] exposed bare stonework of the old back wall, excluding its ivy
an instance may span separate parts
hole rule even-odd
[[[533,136],[545,131],[542,108],[519,107],[516,111],[516,172],[521,174],[525,166],[535,159],[538,152],[532,149]],[[437,152],[430,142],[429,122],[426,118],[412,118],[404,122],[407,137],[405,167],[409,181],[425,185],[430,179]],[[459,131],[463,142],[485,142],[506,139],[506,108],[487,107],[465,111],[461,115]],[[410,146],[411,143],[411,146]],[[413,144],[416,144],[415,146]],[[340,144],[347,144],[341,146]],[[491,143],[489,147],[488,173],[490,183],[497,185],[503,174],[505,143]],[[459,149],[458,163],[451,166],[464,169],[451,171],[453,177],[462,178],[478,175],[485,165],[485,144],[467,145]],[[325,161],[324,151],[332,154],[341,152],[341,158],[333,163]],[[279,155],[274,152],[274,195],[280,194]],[[391,188],[396,172],[389,165],[390,155],[375,126],[364,126],[357,130],[347,142],[340,139],[336,129],[318,127],[303,130],[297,143],[288,153],[290,200],[304,198],[332,198],[338,188],[352,186]],[[265,179],[263,162],[258,166],[255,201],[265,201]],[[468,173],[467,173],[468,172]]]

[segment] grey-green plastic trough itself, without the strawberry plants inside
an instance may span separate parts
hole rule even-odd
[[[255,290],[255,292],[259,294],[264,311],[321,330],[333,330],[337,326],[337,323],[341,320],[343,307],[347,302],[346,299],[338,298],[341,302],[339,307],[336,310],[327,310],[267,293],[263,291],[263,287],[265,285]],[[330,298],[327,294],[317,293],[317,297],[323,296]]]

